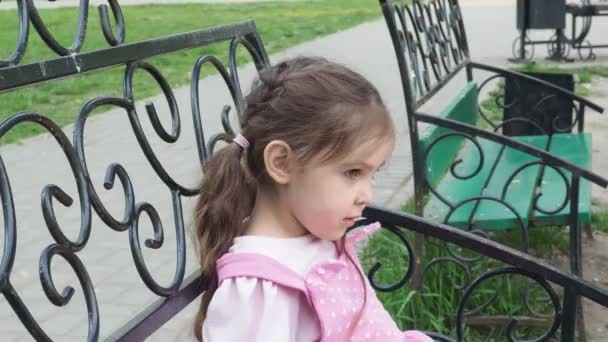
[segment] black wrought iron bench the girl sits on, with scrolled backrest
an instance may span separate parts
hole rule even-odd
[[[101,72],[101,70],[116,67],[125,68],[124,95],[122,97],[111,97],[101,94],[99,97],[86,101],[74,122],[72,139],[44,113],[28,111],[9,113],[10,115],[0,123],[0,138],[14,132],[17,127],[24,123],[42,127],[48,133],[48,140],[44,140],[45,144],[56,146],[60,150],[61,157],[65,158],[65,160],[62,160],[62,164],[66,166],[65,173],[71,177],[71,182],[67,186],[47,183],[40,188],[30,189],[33,193],[15,192],[14,189],[17,188],[14,186],[15,183],[13,181],[19,176],[20,171],[23,171],[23,169],[19,169],[22,165],[19,161],[14,160],[7,163],[6,158],[2,158],[2,163],[0,163],[0,197],[3,206],[4,235],[2,235],[3,249],[0,263],[1,312],[9,311],[15,314],[23,325],[23,332],[27,330],[27,333],[33,339],[39,341],[52,340],[53,335],[49,334],[49,331],[39,324],[37,313],[33,311],[34,304],[27,301],[31,294],[25,291],[26,289],[24,288],[26,285],[29,285],[28,283],[36,283],[38,285],[38,292],[43,292],[48,301],[53,306],[58,307],[51,315],[63,318],[64,321],[72,320],[74,317],[64,315],[62,311],[64,308],[59,307],[73,306],[75,302],[77,303],[76,298],[78,296],[84,297],[82,306],[86,307],[86,309],[84,309],[82,319],[85,320],[87,330],[86,340],[97,341],[100,338],[104,338],[108,341],[143,341],[166,325],[171,318],[183,312],[184,308],[190,303],[196,301],[206,286],[206,279],[201,279],[196,270],[190,274],[186,274],[186,264],[188,261],[186,250],[189,248],[189,245],[186,239],[186,227],[183,219],[185,212],[183,202],[190,197],[196,196],[198,190],[196,187],[182,184],[167,172],[171,165],[167,165],[157,158],[150,143],[153,136],[147,134],[153,132],[156,134],[154,138],[158,138],[167,144],[175,144],[185,139],[183,134],[180,135],[180,127],[182,127],[180,122],[182,121],[179,114],[180,106],[175,101],[174,90],[163,77],[162,68],[156,67],[151,60],[159,55],[179,53],[193,48],[199,49],[217,43],[224,43],[229,51],[227,58],[228,66],[225,66],[225,63],[221,62],[218,58],[205,55],[204,52],[201,52],[200,58],[195,58],[192,61],[193,72],[191,75],[192,83],[189,100],[192,105],[191,111],[196,138],[196,150],[199,156],[198,161],[203,161],[212,153],[216,143],[231,139],[234,133],[231,128],[228,109],[224,109],[221,115],[215,116],[222,120],[223,130],[209,132],[209,123],[201,120],[203,113],[201,112],[200,98],[205,93],[203,89],[199,89],[199,78],[202,67],[209,66],[217,70],[219,77],[227,86],[226,91],[230,93],[238,114],[243,106],[239,81],[240,69],[236,64],[237,51],[241,50],[239,47],[245,47],[258,70],[269,65],[269,59],[262,41],[256,32],[253,21],[244,21],[221,27],[211,27],[195,32],[125,44],[125,23],[122,19],[121,10],[117,3],[111,2],[118,31],[120,32],[118,37],[116,37],[108,29],[109,26],[106,26],[104,33],[111,47],[92,52],[81,52],[80,47],[85,37],[84,27],[81,27],[81,31],[76,35],[77,38],[73,47],[71,49],[62,49],[59,43],[52,43],[53,39],[50,33],[48,33],[48,27],[42,21],[39,21],[35,24],[39,33],[44,37],[49,46],[54,46],[53,50],[59,56],[50,60],[20,64],[22,57],[26,54],[25,42],[29,35],[27,23],[29,20],[35,21],[31,18],[34,18],[36,13],[33,8],[29,8],[30,19],[28,19],[27,6],[30,6],[31,3],[19,1],[18,4],[20,6],[18,13],[20,14],[19,20],[22,31],[18,37],[14,53],[0,62],[0,104],[5,103],[2,100],[6,99],[9,94],[25,91],[25,89],[21,89],[24,87],[38,90],[43,84],[58,84],[60,82],[58,79],[60,78],[85,78]],[[80,10],[80,18],[86,22],[86,15],[83,14],[83,11],[84,9]],[[104,12],[102,11],[102,13]],[[105,17],[104,20],[107,24],[109,19],[107,16],[108,12],[105,13],[102,14],[102,18]],[[165,128],[166,123],[163,122],[160,111],[152,104],[146,106],[152,130],[147,132],[142,129],[143,120],[140,120],[141,113],[138,113],[137,110],[131,82],[136,69],[149,73],[158,82],[164,99],[168,102],[168,110],[165,114],[170,117],[170,125],[172,127],[170,130]],[[105,178],[102,177],[103,181],[99,181],[99,177],[94,177],[91,174],[91,165],[98,164],[98,161],[88,152],[87,148],[91,146],[91,142],[86,139],[85,126],[87,123],[91,124],[92,118],[90,118],[90,114],[95,109],[103,106],[118,108],[123,115],[126,114],[125,116],[128,117],[134,140],[131,143],[123,143],[121,149],[133,148],[141,150],[145,156],[145,160],[153,170],[154,178],[162,184],[165,190],[163,194],[168,194],[170,198],[166,206],[154,206],[146,200],[142,200],[142,190],[149,186],[149,184],[145,184],[144,187],[134,186],[133,184],[137,179],[133,179],[129,173],[129,169],[125,168],[118,161],[103,164],[103,168],[106,170]],[[61,107],[61,105],[58,105],[58,107]],[[433,122],[434,120],[425,116],[421,116],[421,118],[429,122]],[[441,124],[444,123],[442,122]],[[446,125],[448,125],[446,126],[447,128],[454,128],[449,126],[452,123],[447,123]],[[454,123],[454,125],[457,124]],[[203,134],[203,128],[206,129],[205,134],[214,134],[206,136]],[[460,126],[456,126],[456,128],[460,128]],[[486,137],[486,135],[483,136]],[[180,139],[180,137],[182,138]],[[496,139],[498,142],[503,142],[501,139],[504,139],[495,137],[494,135],[487,135],[487,137]],[[583,177],[600,185],[605,186],[607,183],[605,179],[559,160],[543,151],[517,143],[513,144],[515,148],[539,156],[544,162],[567,168],[573,173],[575,180]],[[7,148],[10,147],[3,146],[3,148],[0,148],[0,156],[6,157],[8,152],[10,152]],[[21,152],[19,148],[20,146],[15,147],[17,153]],[[110,158],[113,159],[117,151],[105,150],[104,152],[111,154]],[[186,156],[185,158],[191,157]],[[38,158],[42,157],[39,156]],[[50,164],[50,162],[43,160],[42,165],[38,165],[37,167],[40,171],[51,171]],[[116,200],[119,203],[119,210],[114,211],[111,210],[111,207],[116,203],[109,203],[103,200],[103,193],[100,191],[101,184],[99,183],[103,183],[104,188],[110,191],[117,185],[115,184],[117,178],[121,183],[120,187],[122,189],[119,189],[120,196]],[[31,181],[33,182],[34,180]],[[72,187],[71,189],[70,186]],[[42,198],[41,202],[38,202],[40,201],[40,192],[42,192]],[[160,195],[159,193],[158,196]],[[58,217],[61,215],[61,210],[66,209],[62,207],[72,206],[73,198],[76,196],[78,196],[80,210],[76,220],[73,220],[73,222],[76,222],[76,232],[74,233],[73,230],[70,230],[73,227],[61,219],[58,220]],[[24,197],[25,201],[22,199]],[[47,234],[40,234],[37,239],[43,239],[46,236],[49,242],[48,244],[45,243],[45,247],[41,250],[31,251],[18,248],[19,236],[23,237],[25,232],[32,229],[32,227],[23,224],[23,222],[20,223],[16,219],[18,216],[16,212],[24,209],[23,206],[19,205],[23,203],[33,208],[29,213],[30,215],[42,214],[44,216],[44,225],[37,228],[42,228],[40,232]],[[37,203],[40,203],[40,205],[38,206]],[[140,240],[143,239],[140,237],[139,228],[142,215],[148,216],[152,223],[154,234],[153,238],[145,239],[145,247],[140,243]],[[169,216],[173,219],[172,229],[163,229],[161,216]],[[486,255],[497,262],[504,263],[504,267],[501,266],[489,270],[482,277],[475,280],[468,289],[467,296],[469,297],[478,288],[478,285],[486,279],[501,277],[503,275],[520,274],[540,284],[546,290],[547,295],[550,296],[551,307],[554,311],[551,329],[545,334],[546,337],[554,335],[557,329],[561,328],[562,340],[570,341],[573,339],[574,327],[572,325],[572,317],[574,317],[576,312],[576,305],[572,301],[572,298],[583,296],[599,305],[608,307],[608,292],[604,289],[553,268],[541,260],[482,237],[424,218],[392,212],[382,208],[369,207],[365,211],[365,216],[367,220],[380,221],[386,231],[401,236],[405,248],[410,250],[410,252],[412,252],[412,249],[409,247],[409,242],[407,242],[407,236],[405,236],[405,232],[407,231],[435,237],[442,241],[462,246],[473,252]],[[165,235],[168,235],[171,230],[175,232],[175,253],[170,262],[165,261],[161,266],[169,268],[172,271],[174,270],[174,273],[169,284],[163,285],[159,282],[157,274],[152,271],[151,264],[146,261],[147,252],[161,249],[161,247],[168,248]],[[98,237],[103,231],[115,233],[113,235],[113,239],[115,240],[100,241]],[[73,235],[76,235],[76,238]],[[118,240],[118,238],[126,237],[127,235],[128,243],[124,240]],[[133,314],[127,323],[113,333],[105,336],[100,335],[100,327],[113,317],[112,314],[105,311],[107,308],[100,307],[98,304],[98,297],[106,289],[103,286],[98,287],[97,279],[92,276],[99,265],[90,261],[87,251],[95,246],[101,246],[108,250],[111,249],[112,252],[105,258],[118,256],[118,259],[114,260],[117,264],[112,265],[114,267],[112,271],[113,277],[119,277],[128,272],[128,266],[133,266],[134,264],[138,274],[138,283],[133,284],[133,287],[139,285],[144,290],[137,289],[137,291],[148,291],[153,294],[153,297],[157,298],[148,307],[138,307],[137,313]],[[114,255],[121,251],[126,251],[127,255],[130,254],[130,256],[125,257],[123,254]],[[30,252],[34,254],[35,258],[40,257],[38,268],[34,270],[34,273],[39,274],[39,280],[32,279],[29,282],[16,282],[16,278],[21,276],[19,274],[21,270],[15,270],[14,261],[15,256],[19,255],[20,252],[26,254]],[[66,273],[54,271],[53,265],[58,263],[58,259],[63,259],[69,264],[71,270],[68,273],[75,276],[75,281],[79,282],[79,289],[74,290],[72,287],[74,283],[68,283],[68,286],[63,289],[57,286],[56,281]],[[373,285],[385,291],[394,290],[402,286],[408,281],[408,275],[413,270],[412,265],[415,259],[415,254],[410,253],[410,263],[402,265],[402,268],[405,269],[403,279],[399,284],[393,284],[389,288],[385,288],[384,284],[375,281],[374,277],[379,268],[381,270],[381,267],[380,265],[373,266],[369,271]],[[42,287],[41,289],[39,288],[40,286]],[[567,294],[562,302],[558,299],[554,287],[562,289]],[[558,292],[561,291],[558,290]],[[119,298],[116,300],[117,302],[127,299],[124,296]],[[464,298],[463,303],[466,303],[466,301],[467,298]],[[114,312],[115,314],[116,312]],[[465,318],[466,312],[461,311],[457,313],[455,319],[464,324]],[[6,336],[4,335],[4,331],[2,334]],[[452,340],[446,336],[432,335],[439,341]],[[456,335],[456,340],[464,340],[462,330]]]

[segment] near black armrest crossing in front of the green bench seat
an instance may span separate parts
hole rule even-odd
[[[564,168],[564,169],[572,172],[573,175],[583,177],[583,178],[589,180],[590,182],[597,184],[598,186],[601,186],[603,188],[608,187],[608,179],[603,178],[589,170],[583,169],[575,164],[567,162],[564,159],[559,158],[552,153],[549,153],[549,152],[540,150],[536,147],[533,147],[531,145],[516,141],[507,136],[499,135],[499,134],[496,134],[493,132],[489,132],[489,131],[480,129],[475,126],[461,123],[459,121],[449,120],[449,119],[441,118],[441,117],[434,116],[434,115],[428,115],[428,114],[419,113],[419,112],[415,113],[414,115],[415,115],[417,121],[426,122],[426,123],[436,125],[436,126],[441,126],[444,128],[449,128],[449,129],[452,129],[459,133],[487,139],[487,140],[490,140],[490,141],[493,141],[493,142],[496,142],[496,143],[499,143],[499,144],[502,144],[505,146],[509,146],[516,150],[533,155],[533,156],[541,159],[542,162],[546,163],[547,165]]]

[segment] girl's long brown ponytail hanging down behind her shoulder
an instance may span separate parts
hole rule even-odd
[[[195,245],[207,289],[195,318],[194,336],[202,341],[202,326],[213,294],[219,286],[217,260],[235,237],[244,233],[243,221],[251,214],[256,183],[246,165],[247,150],[232,143],[203,163],[203,183],[195,208]]]

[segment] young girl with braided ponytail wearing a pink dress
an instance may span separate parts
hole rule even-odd
[[[320,58],[260,72],[242,132],[203,165],[195,336],[233,341],[432,341],[401,332],[345,235],[371,201],[394,128],[378,91]]]

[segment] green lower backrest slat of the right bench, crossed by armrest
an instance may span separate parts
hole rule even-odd
[[[470,125],[475,125],[477,122],[477,84],[469,82],[446,108],[439,114],[440,117],[457,120]],[[429,126],[426,129],[420,130],[420,145],[418,153],[424,155],[427,146],[431,144],[440,135],[449,132],[449,129]],[[451,165],[452,160],[463,146],[464,138],[451,137],[438,143],[429,153],[429,157],[425,161],[429,182],[437,184],[447,168]],[[432,166],[432,167],[431,167]]]

